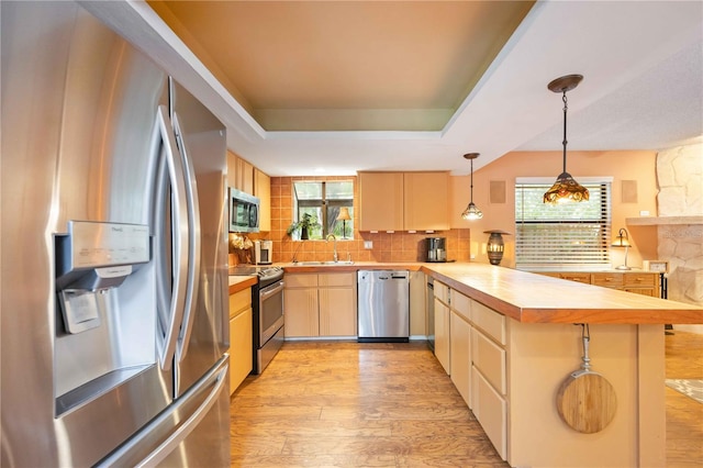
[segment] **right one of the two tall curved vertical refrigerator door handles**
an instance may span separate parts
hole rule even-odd
[[[193,320],[198,304],[198,292],[200,286],[200,205],[198,201],[198,186],[196,183],[196,169],[186,142],[178,114],[174,113],[174,130],[176,141],[179,143],[181,164],[183,167],[183,178],[186,181],[186,197],[188,205],[188,281],[186,292],[186,309],[178,338],[178,360],[182,361],[188,354],[190,335],[193,330]]]

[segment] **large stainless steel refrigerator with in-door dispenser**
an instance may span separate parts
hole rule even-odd
[[[224,125],[74,2],[0,16],[0,466],[228,466]]]

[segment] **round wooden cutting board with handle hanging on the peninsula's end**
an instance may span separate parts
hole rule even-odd
[[[591,332],[581,323],[583,364],[561,383],[557,393],[559,416],[574,431],[593,434],[607,426],[615,416],[617,397],[605,377],[591,370],[589,344]]]

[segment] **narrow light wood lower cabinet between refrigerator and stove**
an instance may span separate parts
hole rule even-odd
[[[252,371],[252,313],[250,288],[230,296],[230,394]]]

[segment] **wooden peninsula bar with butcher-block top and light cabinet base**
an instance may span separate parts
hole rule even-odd
[[[700,308],[486,264],[422,270],[435,279],[435,354],[511,466],[666,467],[663,325],[703,323]],[[594,433],[557,410],[582,364],[576,324],[616,398]]]

